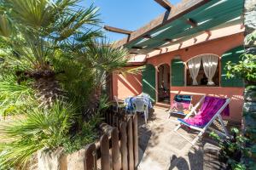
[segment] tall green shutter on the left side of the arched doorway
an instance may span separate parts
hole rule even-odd
[[[146,65],[143,70],[143,93],[149,94],[151,99],[156,99],[155,96],[155,69],[154,65]]]

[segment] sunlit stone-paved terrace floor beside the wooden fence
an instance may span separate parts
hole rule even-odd
[[[139,170],[201,170],[203,169],[203,150],[205,142],[212,140],[205,135],[195,146],[180,137],[173,129],[177,126],[177,116],[168,118],[167,109],[154,107],[148,124],[139,116]],[[189,139],[195,133],[179,129]]]

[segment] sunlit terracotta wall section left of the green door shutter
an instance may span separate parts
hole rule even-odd
[[[126,69],[136,68],[137,66],[127,67]],[[119,99],[125,99],[128,96],[136,96],[143,92],[142,74],[126,74],[125,76],[118,72],[113,73],[113,96]]]

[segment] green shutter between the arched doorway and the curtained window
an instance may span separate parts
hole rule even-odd
[[[181,59],[172,59],[172,86],[184,86],[184,65]]]

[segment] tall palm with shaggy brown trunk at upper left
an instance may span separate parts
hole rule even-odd
[[[57,50],[76,37],[90,40],[99,35],[88,28],[99,23],[97,8],[84,9],[77,3],[79,0],[0,1],[0,38],[13,50],[10,61],[22,60],[26,65],[16,75],[35,80],[32,86],[42,105],[63,94],[50,63]]]

